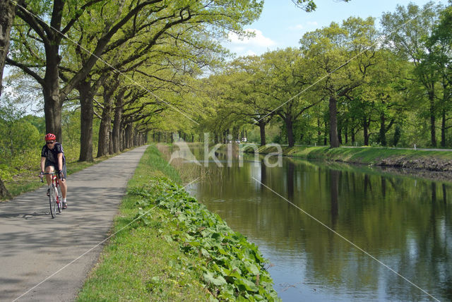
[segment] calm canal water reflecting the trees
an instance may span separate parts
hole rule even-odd
[[[450,183],[294,159],[270,168],[250,159],[243,167],[211,162],[188,190],[259,246],[283,301],[452,301]]]

